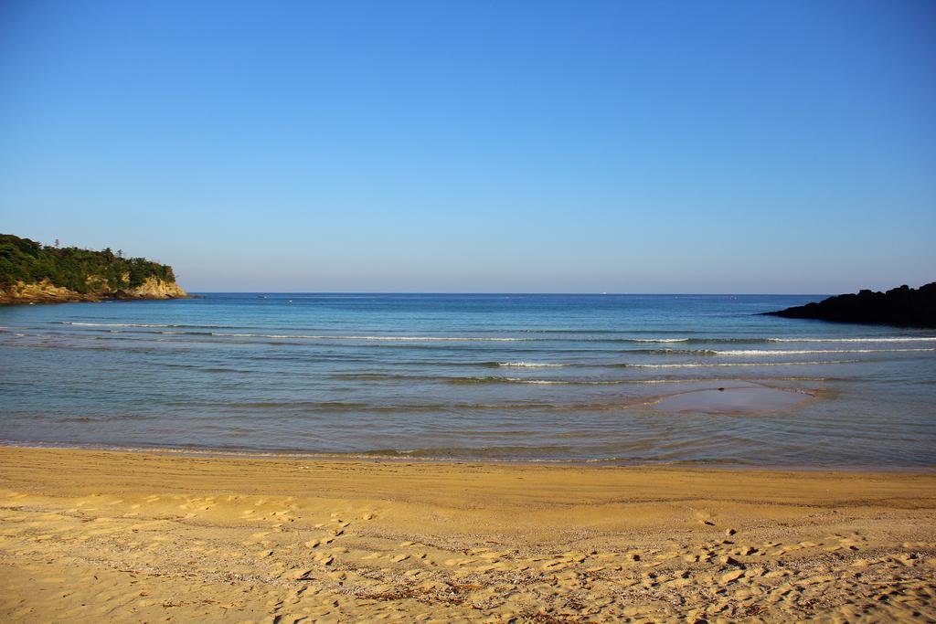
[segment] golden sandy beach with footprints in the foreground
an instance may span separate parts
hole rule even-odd
[[[0,448],[2,621],[936,619],[936,475]]]

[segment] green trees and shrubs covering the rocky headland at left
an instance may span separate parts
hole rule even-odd
[[[49,280],[78,293],[99,293],[134,288],[147,278],[175,282],[168,265],[145,258],[124,258],[110,249],[93,252],[77,247],[58,249],[40,242],[0,234],[0,290],[17,282]]]

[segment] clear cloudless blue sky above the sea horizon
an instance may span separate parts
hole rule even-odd
[[[936,280],[936,3],[0,2],[0,231],[192,291]]]

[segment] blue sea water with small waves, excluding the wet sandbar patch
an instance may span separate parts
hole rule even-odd
[[[207,294],[3,307],[0,440],[936,463],[936,331],[757,315],[820,298]],[[719,387],[789,389],[806,400],[736,412],[655,405]]]

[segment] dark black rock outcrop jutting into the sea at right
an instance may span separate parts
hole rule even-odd
[[[857,295],[828,297],[818,303],[764,313],[840,323],[936,327],[936,282],[915,289],[903,285],[885,293],[862,290]]]

